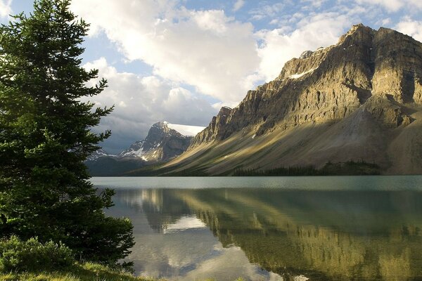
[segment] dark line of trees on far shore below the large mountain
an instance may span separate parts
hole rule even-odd
[[[379,175],[380,167],[364,161],[332,163],[328,162],[321,169],[315,166],[288,166],[275,169],[235,169],[233,176],[360,176]]]

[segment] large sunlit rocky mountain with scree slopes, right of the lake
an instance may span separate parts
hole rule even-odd
[[[422,174],[422,44],[354,25],[338,44],[305,51],[279,77],[223,107],[162,172],[236,170],[353,161],[382,174]]]

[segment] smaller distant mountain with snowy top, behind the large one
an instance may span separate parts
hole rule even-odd
[[[191,144],[193,136],[184,136],[172,128],[184,133],[203,129],[168,122],[155,123],[145,140],[137,141],[119,155],[110,155],[102,149],[94,152],[86,162],[91,176],[120,176],[127,171],[166,162],[181,155]]]

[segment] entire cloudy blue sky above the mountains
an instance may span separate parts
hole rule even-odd
[[[0,21],[33,1],[0,0]],[[115,105],[94,131],[117,153],[155,122],[207,126],[222,106],[271,81],[286,61],[330,46],[363,23],[422,41],[421,0],[72,0],[91,24],[84,67],[108,88],[90,100]]]

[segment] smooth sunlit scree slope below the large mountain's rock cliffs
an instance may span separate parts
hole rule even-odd
[[[422,112],[419,107],[409,111],[414,122],[395,129],[386,129],[362,106],[334,124],[274,128],[255,138],[250,132],[238,132],[224,141],[198,145],[165,166],[174,171],[203,169],[209,174],[230,174],[235,169],[308,164],[318,168],[327,162],[353,159],[376,163],[386,174],[422,174]]]

